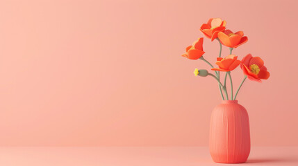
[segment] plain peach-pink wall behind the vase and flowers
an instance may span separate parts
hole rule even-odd
[[[297,1],[1,1],[0,145],[206,146],[220,103],[181,57],[222,17],[271,73],[245,82],[253,146],[298,145]],[[204,39],[215,62],[219,44]],[[223,48],[227,55],[228,48]],[[234,86],[242,71],[231,73]]]

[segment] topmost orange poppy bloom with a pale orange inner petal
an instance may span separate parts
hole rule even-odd
[[[201,25],[201,32],[213,41],[217,38],[217,34],[226,29],[226,21],[220,18],[209,19],[207,24]]]

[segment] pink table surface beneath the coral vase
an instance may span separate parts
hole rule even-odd
[[[0,165],[230,164],[213,163],[208,147],[0,147]],[[240,165],[298,165],[298,147],[251,147],[247,163]]]

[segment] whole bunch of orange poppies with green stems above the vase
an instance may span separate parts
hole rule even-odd
[[[200,37],[191,46],[186,47],[186,52],[182,56],[193,60],[201,59],[211,66],[211,70],[215,72],[215,75],[213,73],[209,73],[206,69],[198,68],[194,69],[194,75],[199,75],[201,77],[214,77],[219,84],[222,100],[235,100],[243,82],[245,82],[247,78],[252,81],[262,82],[261,80],[267,80],[268,77],[270,77],[270,73],[267,71],[267,68],[264,66],[263,59],[260,57],[253,57],[251,54],[248,54],[240,61],[238,56],[232,54],[234,48],[238,48],[238,46],[241,46],[248,41],[248,38],[244,36],[242,31],[233,33],[231,30],[226,29],[226,21],[223,21],[220,18],[209,19],[207,24],[201,25],[200,31],[208,39],[211,39],[212,42],[216,39],[220,43],[220,55],[217,57],[217,61],[215,62],[217,67],[210,64],[210,62],[208,62],[203,56],[205,53],[203,50],[203,37]],[[222,45],[228,47],[230,50],[230,54],[226,57],[222,57]],[[231,71],[238,66],[240,66],[245,76],[235,95],[233,95]],[[225,73],[224,84],[220,81],[220,72]],[[229,98],[226,90],[227,76],[229,76],[229,80],[231,82],[231,98]],[[225,98],[222,91],[224,91]]]

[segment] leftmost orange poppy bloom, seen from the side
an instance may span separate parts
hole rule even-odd
[[[186,53],[182,56],[187,57],[188,59],[199,59],[205,52],[203,51],[203,41],[204,38],[199,38],[192,46],[186,48]]]

